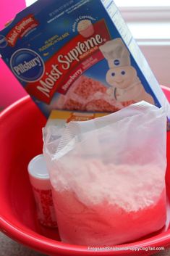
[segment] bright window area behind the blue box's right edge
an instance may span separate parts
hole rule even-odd
[[[170,87],[170,1],[114,1],[159,83]]]

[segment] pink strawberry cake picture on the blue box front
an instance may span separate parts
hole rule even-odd
[[[101,82],[82,75],[52,104],[53,109],[96,112],[116,112],[134,102],[116,102],[107,94]]]

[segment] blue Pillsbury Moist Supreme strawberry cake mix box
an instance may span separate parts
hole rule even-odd
[[[0,54],[46,117],[141,100],[169,110],[112,0],[39,0],[0,31]]]

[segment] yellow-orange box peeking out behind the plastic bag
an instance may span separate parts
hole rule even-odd
[[[46,127],[56,125],[58,128],[64,128],[70,121],[88,121],[96,117],[103,117],[104,115],[108,115],[108,113],[52,110],[48,117]]]

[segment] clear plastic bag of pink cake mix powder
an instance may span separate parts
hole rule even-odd
[[[62,132],[55,139],[57,129],[48,128],[43,136],[62,241],[111,246],[163,227],[162,108],[140,102],[95,120],[71,122]]]

